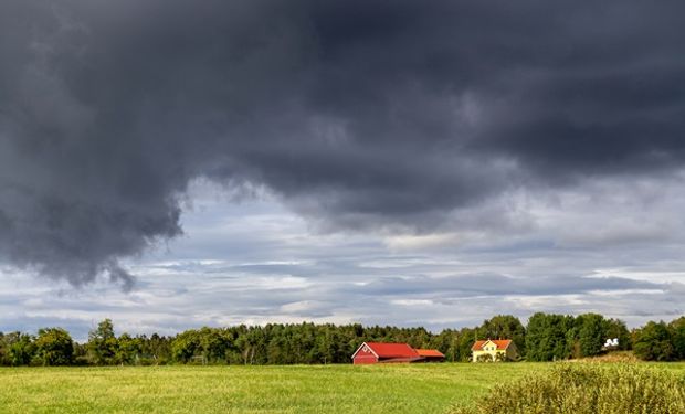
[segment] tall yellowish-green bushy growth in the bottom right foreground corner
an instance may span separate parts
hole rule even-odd
[[[496,386],[453,413],[685,413],[685,376],[635,364],[565,364]]]

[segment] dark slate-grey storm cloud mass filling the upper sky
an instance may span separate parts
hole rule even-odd
[[[190,180],[432,229],[526,183],[682,166],[678,1],[0,6],[0,255],[74,284],[180,234]]]

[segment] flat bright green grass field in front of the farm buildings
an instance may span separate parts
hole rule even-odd
[[[443,413],[551,363],[0,369],[1,413]],[[685,374],[685,363],[650,364]]]

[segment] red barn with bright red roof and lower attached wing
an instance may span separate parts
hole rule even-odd
[[[440,358],[442,357],[442,358]],[[407,343],[363,342],[352,354],[355,364],[442,361],[438,350],[415,350]]]

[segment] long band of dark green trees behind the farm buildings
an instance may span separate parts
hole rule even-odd
[[[521,360],[552,361],[599,355],[604,341],[618,338],[614,350],[633,350],[650,361],[685,359],[685,317],[649,322],[629,331],[621,320],[598,314],[579,316],[533,315],[528,325],[499,315],[474,328],[445,329],[363,327],[361,325],[244,325],[190,329],[177,336],[116,336],[105,319],[75,342],[62,328],[43,328],[36,335],[0,332],[2,365],[149,365],[192,364],[323,364],[349,363],[363,341],[407,342],[414,348],[435,348],[447,361],[468,361],[476,339],[507,338],[516,343]]]

